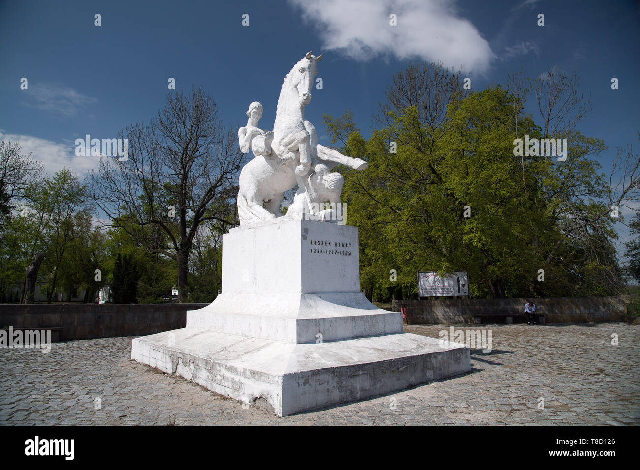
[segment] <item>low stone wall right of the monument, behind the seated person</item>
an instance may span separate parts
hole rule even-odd
[[[483,322],[504,322],[506,315],[524,313],[529,299],[440,299],[394,301],[393,309],[407,308],[410,325],[473,324],[475,317]],[[611,322],[622,320],[627,305],[621,297],[559,297],[536,299],[537,313],[545,313],[547,323]],[[514,318],[518,323],[518,319]],[[521,320],[522,321],[522,320]]]

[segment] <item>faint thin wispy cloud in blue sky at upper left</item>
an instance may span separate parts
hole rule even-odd
[[[26,98],[28,107],[65,117],[75,116],[81,107],[98,102],[96,98],[85,96],[72,88],[44,83],[29,82],[29,88],[20,95]]]

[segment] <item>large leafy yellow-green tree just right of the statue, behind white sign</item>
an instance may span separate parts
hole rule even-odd
[[[507,295],[512,279],[532,279],[536,253],[513,237],[531,235],[536,214],[524,212],[535,201],[525,199],[513,158],[508,94],[495,88],[456,102],[446,118],[449,131],[429,145],[415,131],[415,107],[392,114],[392,126],[375,130],[365,145],[354,134],[348,141],[364,152],[352,156],[369,161],[362,176],[349,175],[345,193],[349,223],[355,218],[360,226],[371,262],[364,277],[379,298],[394,284],[415,291],[416,272],[424,270],[467,270],[472,292],[494,297]],[[390,152],[391,139],[397,153]]]

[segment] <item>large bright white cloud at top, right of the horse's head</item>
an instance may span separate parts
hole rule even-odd
[[[442,61],[445,67],[484,72],[494,58],[489,43],[452,1],[289,0],[313,24],[323,49],[366,61],[376,56]],[[390,26],[389,15],[397,15]],[[324,51],[317,51],[319,54]]]

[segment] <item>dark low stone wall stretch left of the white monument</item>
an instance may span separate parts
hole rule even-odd
[[[184,328],[187,310],[207,304],[0,304],[0,328],[62,328],[60,341]]]

